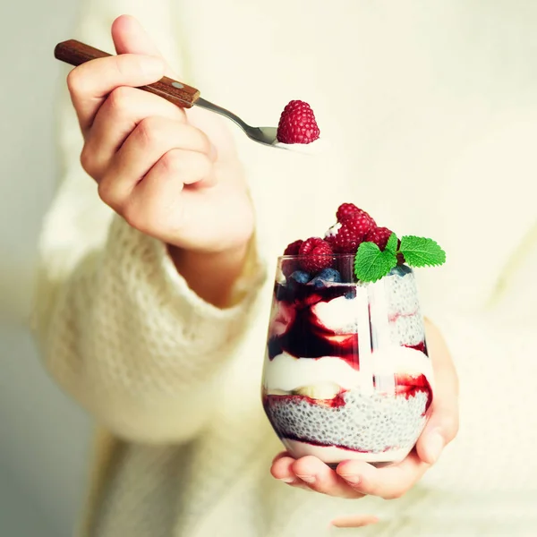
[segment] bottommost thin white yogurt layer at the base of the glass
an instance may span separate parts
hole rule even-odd
[[[323,463],[337,464],[341,461],[359,460],[367,463],[400,463],[410,453],[411,447],[392,449],[382,453],[360,453],[336,446],[314,446],[299,440],[282,439],[284,446],[295,458],[316,456]]]

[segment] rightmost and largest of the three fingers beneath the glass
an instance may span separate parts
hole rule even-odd
[[[345,461],[336,472],[362,494],[396,499],[411,489],[429,467],[413,451],[398,465],[376,468],[362,461]]]

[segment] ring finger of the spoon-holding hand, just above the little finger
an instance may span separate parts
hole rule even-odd
[[[207,136],[192,125],[158,116],[146,117],[115,154],[99,183],[99,195],[107,205],[121,211],[123,201],[134,186],[168,151],[184,149],[209,157],[210,148]]]

